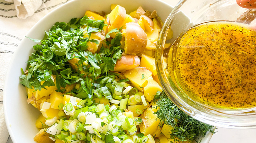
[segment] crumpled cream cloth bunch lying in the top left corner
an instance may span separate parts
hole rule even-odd
[[[7,2],[13,2],[17,12],[17,17],[20,19],[26,19],[32,16],[34,12],[42,5],[42,0],[5,0]]]

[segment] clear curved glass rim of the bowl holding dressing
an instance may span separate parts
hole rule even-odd
[[[168,75],[165,72],[165,67],[163,64],[163,49],[166,41],[167,33],[171,27],[172,19],[175,14],[177,14],[182,7],[182,5],[188,0],[181,0],[171,11],[170,15],[166,19],[161,31],[156,48],[156,66],[157,73],[163,90],[167,96],[186,114],[189,116],[198,119],[207,124],[213,126],[224,127],[224,128],[234,128],[234,129],[250,129],[256,127],[256,113],[250,114],[246,113],[248,110],[255,110],[254,108],[245,109],[243,113],[241,111],[232,111],[232,110],[223,110],[226,113],[223,113],[222,110],[213,111],[210,108],[206,108],[203,105],[200,105],[188,98],[183,100],[175,91],[175,87],[172,86],[168,80]],[[193,103],[193,106],[189,102]]]

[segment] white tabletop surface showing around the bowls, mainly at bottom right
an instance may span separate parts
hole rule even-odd
[[[163,0],[175,6],[179,0]],[[217,133],[212,136],[209,143],[256,143],[256,129],[216,129]],[[7,143],[12,143],[11,139]]]

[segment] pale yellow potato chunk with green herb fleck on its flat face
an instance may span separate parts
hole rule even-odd
[[[142,78],[142,74],[144,78]],[[152,72],[147,70],[145,67],[136,67],[132,70],[124,71],[123,73],[125,78],[128,78],[133,87],[138,88],[142,92],[146,80],[148,77],[152,76]]]

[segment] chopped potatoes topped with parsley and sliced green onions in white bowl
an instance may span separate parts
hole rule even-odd
[[[69,23],[56,22],[42,40],[29,38],[37,44],[20,83],[41,112],[34,141],[193,140],[179,139],[156,114],[162,87],[154,56],[162,24],[155,10],[127,14],[113,4],[108,14],[88,10]]]

